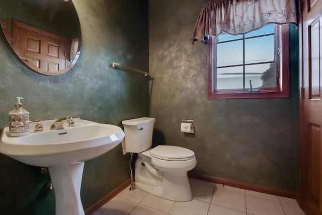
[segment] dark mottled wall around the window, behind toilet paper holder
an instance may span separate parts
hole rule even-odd
[[[195,171],[214,177],[297,190],[297,32],[292,28],[291,97],[207,99],[206,45],[189,42],[206,1],[149,0],[150,115],[167,145],[195,152]],[[196,132],[180,132],[194,119]]]

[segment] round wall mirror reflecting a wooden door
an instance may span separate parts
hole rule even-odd
[[[0,23],[12,50],[47,76],[66,73],[81,50],[81,25],[71,0],[0,0]]]

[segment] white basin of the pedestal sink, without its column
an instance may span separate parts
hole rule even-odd
[[[33,131],[25,136],[10,136],[9,127],[4,128],[0,153],[22,163],[50,167],[87,161],[98,157],[124,138],[123,130],[115,125],[74,119],[75,126],[50,130],[54,120],[43,121],[43,131]]]

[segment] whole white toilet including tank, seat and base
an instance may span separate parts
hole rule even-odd
[[[152,146],[154,118],[122,121],[125,149],[137,153],[135,185],[150,194],[174,200],[190,201],[192,192],[187,171],[196,166],[193,151],[176,146]]]

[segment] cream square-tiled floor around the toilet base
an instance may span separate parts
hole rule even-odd
[[[191,201],[170,201],[127,187],[93,215],[305,215],[295,199],[189,180]]]

